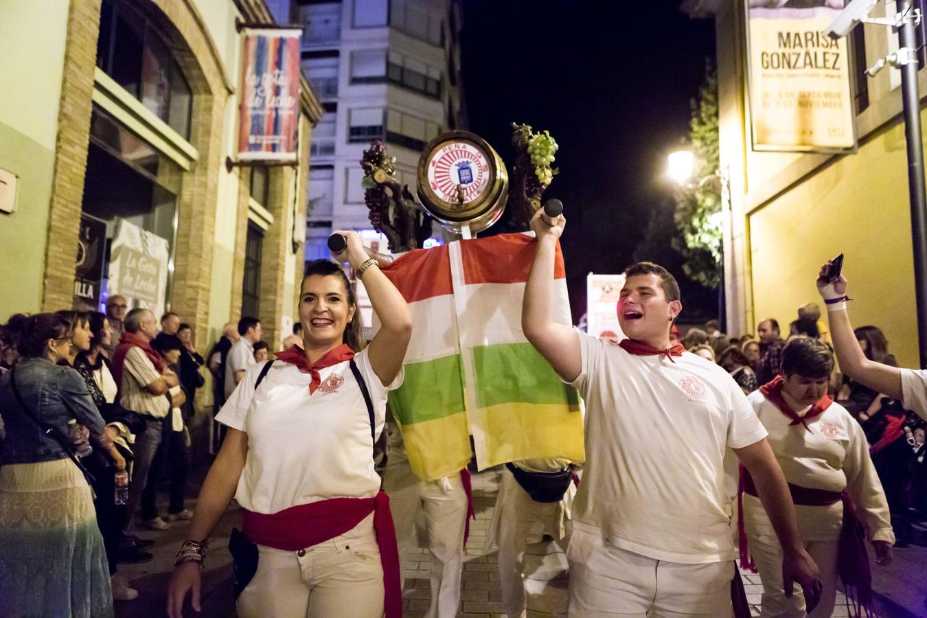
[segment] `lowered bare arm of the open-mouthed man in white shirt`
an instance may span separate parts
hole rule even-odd
[[[818,565],[811,560],[798,532],[798,520],[785,475],[766,438],[744,447],[734,448],[737,458],[753,477],[756,493],[769,516],[769,522],[782,547],[782,582],[785,596],[792,596],[793,582],[802,586],[807,611],[820,598],[821,580]]]

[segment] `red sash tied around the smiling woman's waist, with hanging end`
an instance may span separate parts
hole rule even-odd
[[[376,498],[331,498],[300,504],[271,514],[243,511],[245,536],[264,547],[298,551],[341,536],[374,513],[376,543],[383,565],[384,608],[387,618],[402,615],[400,554],[396,528],[389,512],[389,498],[379,492]]]

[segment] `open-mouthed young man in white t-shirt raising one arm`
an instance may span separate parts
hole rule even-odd
[[[781,468],[740,387],[716,364],[669,347],[679,286],[654,264],[626,272],[620,345],[552,320],[561,215],[539,210],[538,249],[525,289],[522,329],[555,372],[586,400],[586,454],[573,508],[571,616],[730,615],[737,573],[723,491],[726,448],[753,474],[783,548],[782,576],[820,591],[798,534]]]

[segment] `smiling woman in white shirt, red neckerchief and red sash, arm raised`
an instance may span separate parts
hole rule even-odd
[[[412,319],[358,234],[338,233],[347,248],[335,258],[362,279],[381,328],[362,349],[344,272],[324,260],[307,265],[303,347],[250,367],[216,417],[229,431],[178,553],[171,618],[191,592],[200,611],[206,542],[233,497],[244,511],[243,536],[230,543],[239,616],[401,614],[395,531],[373,448],[387,393],[402,383]]]

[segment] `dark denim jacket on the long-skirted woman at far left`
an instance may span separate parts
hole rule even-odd
[[[40,423],[53,427],[67,438],[68,421],[76,419],[90,430],[95,446],[108,445],[103,417],[90,397],[80,373],[48,359],[19,359],[11,372],[0,376],[0,414],[6,439],[0,442],[0,465],[60,460],[68,453],[51,435],[32,420],[13,394],[15,377],[23,403]]]

